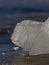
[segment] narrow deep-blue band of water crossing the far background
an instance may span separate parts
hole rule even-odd
[[[11,13],[30,13],[30,12],[48,12],[48,9],[40,9],[40,8],[27,8],[27,7],[16,7],[16,8],[0,8],[0,14],[11,14]]]

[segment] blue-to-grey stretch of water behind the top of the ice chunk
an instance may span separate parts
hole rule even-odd
[[[26,7],[0,8],[0,25],[15,25],[22,20],[37,20],[37,18],[39,18],[39,21],[44,21],[48,16],[49,10],[47,9],[35,9]]]

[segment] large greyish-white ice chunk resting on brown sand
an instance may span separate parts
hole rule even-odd
[[[49,18],[45,22],[24,20],[18,23],[11,39],[30,55],[49,53]]]

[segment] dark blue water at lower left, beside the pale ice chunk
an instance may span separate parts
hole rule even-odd
[[[18,57],[22,52],[21,47],[19,47],[16,51],[12,50],[12,47],[16,46],[12,43],[10,37],[10,33],[0,34],[0,60]],[[5,55],[3,55],[3,53],[5,53]]]

